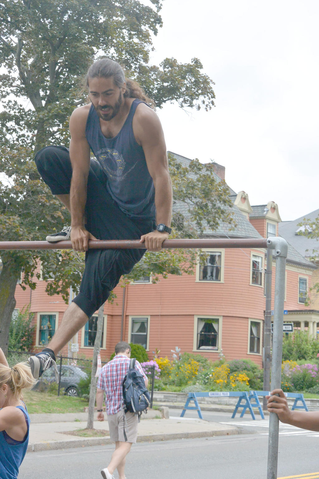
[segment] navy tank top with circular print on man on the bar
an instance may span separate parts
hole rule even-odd
[[[135,99],[119,133],[104,137],[99,116],[91,105],[85,134],[88,144],[107,176],[107,190],[119,208],[130,217],[154,218],[154,184],[143,148],[136,142],[132,120],[141,100]]]

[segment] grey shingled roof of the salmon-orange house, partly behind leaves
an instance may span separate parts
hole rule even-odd
[[[175,156],[176,160],[180,161],[183,166],[188,166],[189,162],[191,161],[189,158],[186,158],[181,155],[177,155],[176,153],[173,153],[169,151],[168,153],[171,153],[172,155]],[[216,175],[216,173],[213,172],[213,175],[215,176],[217,181],[220,181],[220,177]],[[193,176],[195,177],[195,175]],[[235,201],[237,194],[231,190],[230,188],[230,197],[232,202]],[[212,231],[209,228],[206,228],[205,230],[205,237],[213,237],[213,238],[263,238],[258,231],[253,227],[253,225],[250,223],[248,218],[242,214],[242,212],[237,208],[237,206],[233,205],[230,207],[226,208],[228,211],[230,211],[233,215],[234,221],[236,222],[237,226],[236,227],[231,227],[228,223],[220,222],[218,228],[216,228],[214,231]],[[250,214],[250,217],[264,217],[268,211],[266,205],[256,205],[252,206],[253,213]],[[174,202],[173,205],[173,210],[179,211],[182,213],[186,218],[189,218],[189,210],[188,206],[185,203],[182,202]],[[319,214],[319,210],[318,214]],[[318,216],[317,214],[317,216]],[[297,223],[299,223],[301,220],[296,220]],[[290,222],[289,222],[290,223]],[[282,223],[281,223],[282,224]],[[280,224],[279,224],[280,226]],[[233,228],[233,229],[232,229]],[[281,235],[284,237],[283,235]],[[285,237],[284,237],[285,238]],[[298,238],[305,238],[305,237],[298,237]],[[288,243],[288,255],[287,255],[287,262],[291,264],[298,264],[302,265],[305,267],[308,267],[310,269],[317,269],[317,266],[315,266],[312,262],[308,261],[302,254],[300,254],[299,251],[297,251],[294,246],[292,246],[287,238],[285,238],[287,243]],[[317,242],[318,248],[319,248],[319,242]]]

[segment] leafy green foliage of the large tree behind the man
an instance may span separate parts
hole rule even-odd
[[[162,25],[160,10],[159,0],[151,0],[148,6],[137,0],[0,0],[0,175],[6,179],[0,183],[1,240],[43,240],[48,232],[69,223],[66,208],[39,178],[33,155],[48,144],[68,144],[68,118],[87,101],[79,85],[95,58],[118,60],[159,108],[165,102],[206,110],[214,105],[213,82],[202,72],[198,58],[186,64],[174,58],[165,58],[159,67],[149,64],[151,35]],[[192,168],[200,169],[199,162]],[[179,187],[180,183],[175,192]],[[211,193],[220,188],[226,191],[220,185]],[[223,202],[227,198],[221,199],[211,218],[219,220]],[[208,210],[201,210],[199,203],[193,206],[204,225]],[[182,232],[181,220],[177,231]],[[61,293],[67,301],[69,287],[76,289],[79,284],[83,255],[4,251],[1,260],[0,345],[6,352],[14,291],[22,269],[22,288],[34,289],[41,262],[43,279],[54,278],[46,283],[47,292]],[[181,274],[191,269],[187,264],[186,255],[171,252],[150,255],[141,268],[154,274]]]

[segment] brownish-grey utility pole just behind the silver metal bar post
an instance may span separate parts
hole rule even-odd
[[[265,271],[265,296],[266,305],[264,312],[264,385],[263,390],[270,390],[270,369],[271,369],[271,279],[273,269],[273,250],[267,248]],[[267,410],[267,399],[263,398],[263,409]]]

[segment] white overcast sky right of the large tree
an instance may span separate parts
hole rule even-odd
[[[165,0],[151,62],[198,57],[216,106],[158,110],[167,149],[226,167],[251,205],[283,221],[319,208],[318,0]]]

